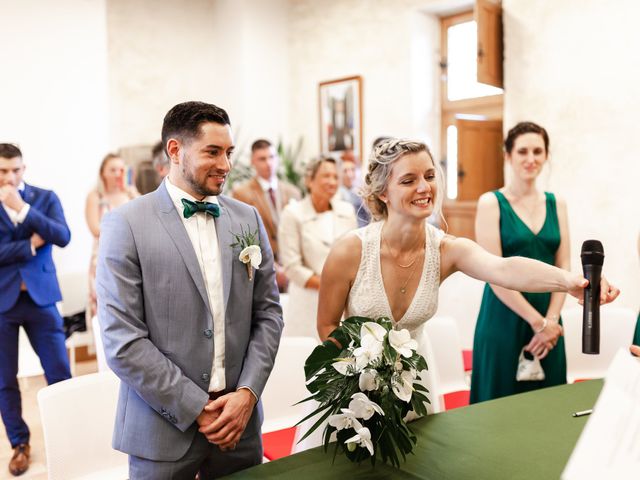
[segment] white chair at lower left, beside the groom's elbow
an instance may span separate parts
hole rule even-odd
[[[119,384],[92,373],[38,392],[50,480],[128,478],[127,455],[111,448]]]

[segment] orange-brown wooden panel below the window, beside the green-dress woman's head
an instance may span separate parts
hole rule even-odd
[[[504,184],[502,120],[456,119],[458,200],[478,200]]]

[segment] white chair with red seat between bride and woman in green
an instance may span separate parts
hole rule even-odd
[[[425,323],[418,352],[427,361],[423,382],[429,389],[428,410],[433,413],[469,404],[461,351],[460,334],[453,318],[435,316]]]

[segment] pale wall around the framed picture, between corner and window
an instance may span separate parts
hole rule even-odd
[[[435,145],[439,135],[438,24],[433,1],[291,2],[291,135],[319,152],[318,84],[361,75],[363,150],[379,135]],[[437,148],[437,147],[436,147]]]

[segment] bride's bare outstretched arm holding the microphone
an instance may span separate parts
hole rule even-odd
[[[446,237],[441,262],[444,277],[461,271],[478,280],[519,292],[567,292],[582,299],[588,285],[580,274],[530,258],[498,257],[466,238]],[[620,290],[603,277],[601,292],[600,300],[604,304],[612,302]]]

